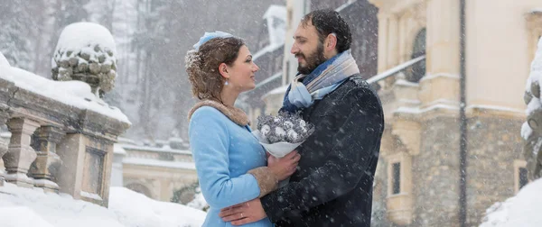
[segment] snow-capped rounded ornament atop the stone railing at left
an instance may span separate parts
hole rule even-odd
[[[71,23],[54,50],[52,79],[81,80],[95,94],[108,92],[117,77],[116,45],[111,33],[97,23]]]

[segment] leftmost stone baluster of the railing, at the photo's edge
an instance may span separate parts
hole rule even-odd
[[[5,180],[17,186],[33,187],[33,179],[26,177],[26,174],[37,156],[30,142],[33,132],[40,127],[40,123],[17,117],[10,119],[7,127],[12,132],[12,137],[7,153],[2,158],[7,171]]]

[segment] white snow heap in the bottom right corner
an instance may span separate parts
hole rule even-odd
[[[537,179],[504,202],[491,205],[480,227],[542,226],[542,179]]]

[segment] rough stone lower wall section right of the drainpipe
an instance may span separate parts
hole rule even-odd
[[[485,210],[515,195],[514,160],[521,159],[523,118],[473,117],[468,123],[467,222],[478,225]]]

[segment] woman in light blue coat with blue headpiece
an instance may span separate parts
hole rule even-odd
[[[189,137],[201,193],[210,204],[203,226],[231,226],[220,209],[266,195],[294,173],[299,154],[270,157],[233,106],[241,92],[254,89],[259,69],[244,41],[224,32],[206,33],[188,52],[186,70],[200,102],[189,113]],[[268,166],[266,166],[268,164]],[[241,214],[242,215],[242,214]],[[272,226],[267,218],[248,226]]]

